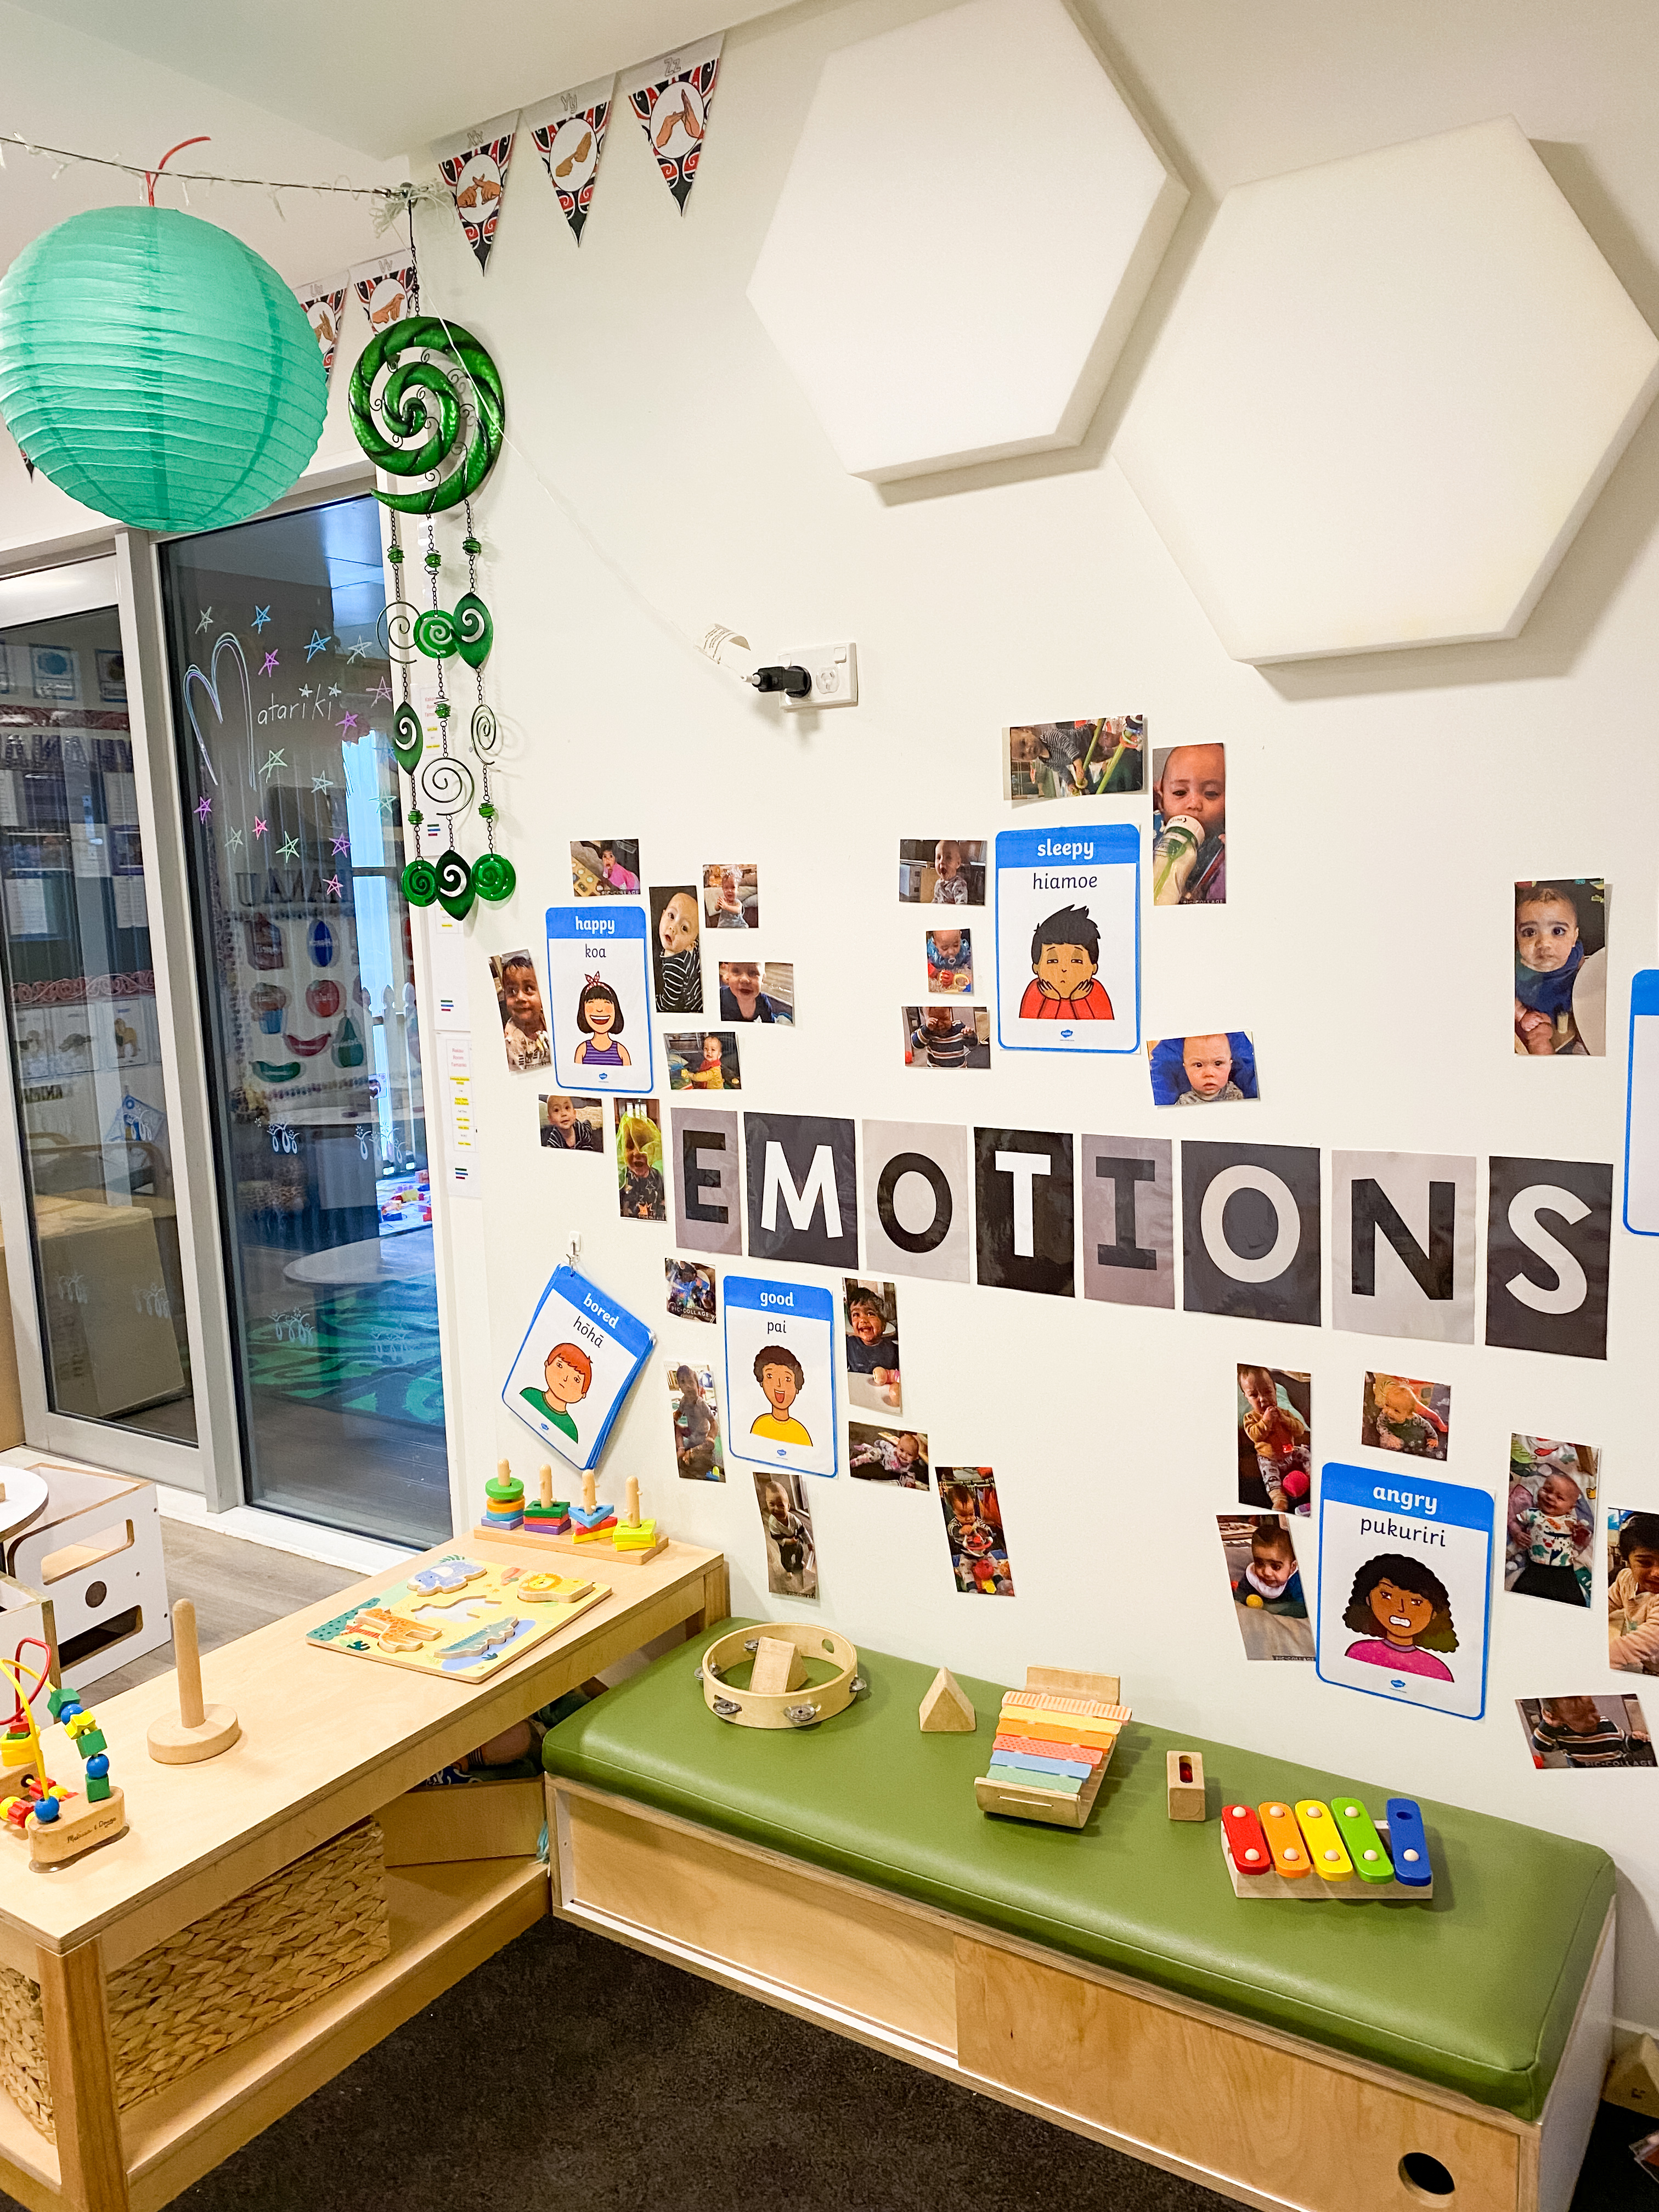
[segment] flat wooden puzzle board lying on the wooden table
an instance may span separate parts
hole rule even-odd
[[[312,1628],[305,1641],[418,1674],[487,1681],[608,1595],[611,1584],[586,1575],[482,1566],[451,1553]]]

